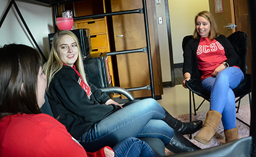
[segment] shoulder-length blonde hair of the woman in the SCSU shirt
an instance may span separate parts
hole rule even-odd
[[[196,15],[195,17],[195,25],[197,24],[197,17],[204,17],[208,22],[210,22],[210,32],[209,32],[209,39],[214,39],[217,38],[220,33],[218,32],[217,24],[215,22],[215,19],[213,15],[209,11],[202,11],[199,12],[199,14]],[[196,26],[193,34],[194,39],[198,39],[200,35],[197,32]]]

